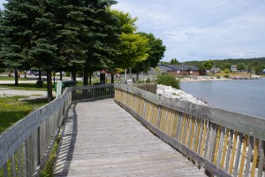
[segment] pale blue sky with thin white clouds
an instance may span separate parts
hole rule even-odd
[[[265,0],[117,1],[138,31],[163,40],[163,61],[265,57]]]

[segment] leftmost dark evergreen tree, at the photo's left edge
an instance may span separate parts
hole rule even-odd
[[[29,50],[32,47],[34,20],[39,16],[35,1],[9,0],[1,25],[4,65],[15,70],[15,85],[18,85],[18,70],[32,67]]]

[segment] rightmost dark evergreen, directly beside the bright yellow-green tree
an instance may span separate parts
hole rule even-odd
[[[97,70],[112,71],[112,61],[117,56],[118,42],[117,19],[110,13],[110,5],[116,1],[86,0],[85,21],[87,33],[82,34],[86,52],[84,67],[84,85],[88,84],[90,76]]]

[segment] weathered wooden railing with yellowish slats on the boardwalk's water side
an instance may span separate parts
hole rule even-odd
[[[265,119],[115,85],[115,102],[216,176],[264,176]]]

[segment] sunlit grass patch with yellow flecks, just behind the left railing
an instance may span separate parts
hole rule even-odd
[[[11,96],[0,98],[0,133],[8,127],[11,127],[19,119],[27,116],[28,113],[34,109],[47,104],[47,100],[27,100],[19,101],[20,98],[26,98],[28,96]]]

